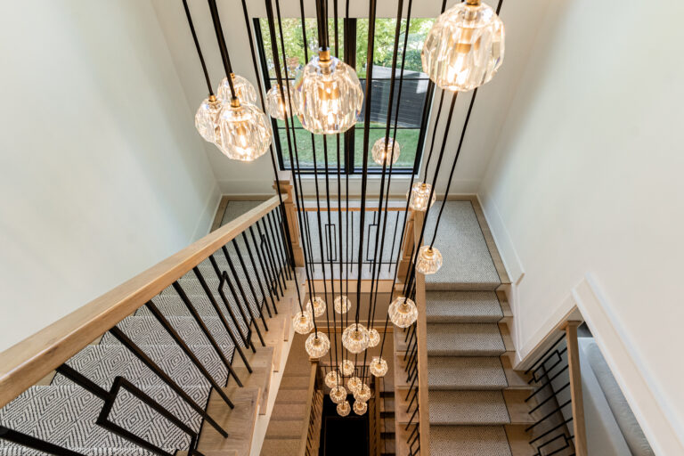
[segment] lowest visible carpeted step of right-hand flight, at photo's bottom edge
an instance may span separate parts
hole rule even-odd
[[[503,426],[430,426],[430,454],[512,456]]]

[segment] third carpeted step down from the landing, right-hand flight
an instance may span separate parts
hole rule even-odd
[[[428,356],[428,387],[502,389],[506,375],[498,356]]]

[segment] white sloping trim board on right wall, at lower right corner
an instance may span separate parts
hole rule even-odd
[[[684,454],[680,423],[591,273],[585,274],[572,294],[654,452],[668,456]]]

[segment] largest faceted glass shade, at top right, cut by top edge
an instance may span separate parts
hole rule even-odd
[[[420,53],[423,71],[443,89],[473,90],[501,67],[504,35],[491,6],[479,0],[457,3],[428,32]]]

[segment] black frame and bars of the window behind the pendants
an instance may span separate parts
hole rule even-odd
[[[269,69],[268,69],[268,61],[266,61],[266,55],[265,55],[265,48],[264,48],[264,38],[262,36],[262,29],[261,29],[261,19],[263,18],[254,18],[253,23],[254,23],[254,34],[256,38],[256,48],[257,48],[257,53],[258,53],[258,59],[259,59],[259,64],[261,66],[261,72],[262,72],[262,80],[264,82],[264,87],[265,91],[268,92],[268,90],[273,86],[272,81],[275,81],[275,77],[271,77]],[[356,69],[356,20],[358,18],[342,18],[342,34],[343,34],[343,45],[344,45],[344,56],[345,56],[345,62],[350,65],[352,68]],[[350,33],[350,31],[354,30],[354,33]],[[278,43],[280,46],[280,43]],[[354,52],[351,52],[351,51]],[[279,49],[280,52],[282,52]],[[287,78],[289,81],[294,80],[294,75],[289,75]],[[285,79],[283,75],[283,79]],[[390,77],[373,77],[372,81],[379,81],[379,80],[390,80]],[[404,81],[407,80],[407,77],[404,77]],[[411,174],[418,174],[419,172],[419,166],[420,166],[420,160],[422,159],[423,156],[423,151],[425,149],[425,140],[426,140],[426,135],[427,135],[427,130],[428,130],[428,119],[430,115],[430,106],[432,105],[433,97],[435,96],[435,84],[432,82],[432,80],[429,79],[429,77],[411,77],[411,80],[423,80],[423,81],[428,81],[428,89],[427,89],[427,94],[425,96],[425,102],[423,104],[423,110],[422,110],[422,115],[420,118],[420,126],[418,128],[414,127],[407,127],[407,126],[397,126],[397,130],[401,129],[408,129],[408,130],[419,130],[419,137],[418,137],[418,143],[416,145],[416,155],[415,159],[413,160],[413,167],[392,167],[392,175],[411,175]],[[366,77],[359,77],[359,80],[367,81]],[[398,81],[396,82],[398,84]],[[397,86],[398,90],[398,86]],[[399,94],[397,94],[397,97]],[[394,116],[394,114],[393,114]],[[365,119],[364,119],[365,121]],[[287,144],[282,144],[281,143],[281,134],[280,130],[286,130],[285,127],[278,126],[278,122],[275,118],[271,118],[271,123],[273,126],[273,142],[275,144],[275,151],[277,152],[278,155],[278,164],[281,168],[281,170],[284,171],[289,171],[291,170],[292,164],[290,164],[289,167],[286,166],[285,160],[283,159],[283,153],[288,153],[289,150]],[[289,129],[292,129],[292,126],[289,126]],[[356,167],[354,165],[354,153],[355,153],[355,140],[356,140],[356,134],[355,134],[355,129],[356,126],[352,126],[349,128],[343,135],[344,137],[341,138],[340,140],[340,147],[343,148],[342,151],[340,151],[340,155],[344,159],[344,166],[340,168],[340,173],[342,175],[360,175],[362,174],[362,167]],[[371,130],[385,130],[385,126],[369,126],[369,129]],[[302,132],[303,134],[306,134],[307,136],[310,135],[311,133],[305,130],[303,127],[295,127],[295,130],[297,131],[297,134],[299,132]],[[327,135],[329,138],[334,138],[335,134],[328,134]],[[361,130],[361,138],[362,138],[362,130]],[[297,136],[298,137],[298,136]],[[328,140],[329,145],[328,145],[328,151],[329,155],[335,156],[337,158],[337,140],[330,141]],[[332,153],[330,153],[330,143],[334,144],[332,148]],[[372,147],[372,144],[369,144],[369,148]],[[370,151],[369,151],[370,153]],[[330,159],[330,157],[329,157]],[[370,158],[369,158],[370,159]],[[338,173],[338,167],[327,167],[327,169],[323,170],[325,164],[318,164],[317,169],[319,173],[325,172],[329,175],[337,175]],[[387,167],[387,171],[389,171],[389,167]],[[299,167],[299,172],[303,175],[307,174],[314,174],[314,167]],[[368,167],[368,174],[369,175],[381,175],[382,174],[382,167]]]

